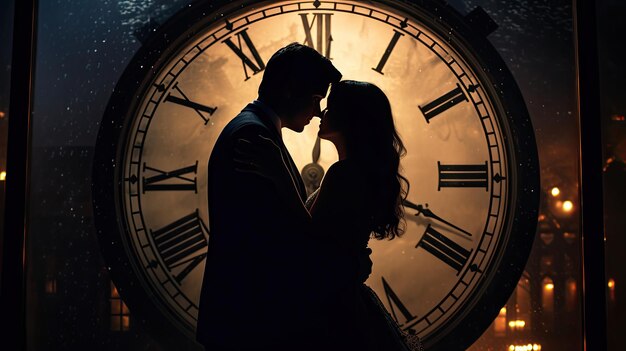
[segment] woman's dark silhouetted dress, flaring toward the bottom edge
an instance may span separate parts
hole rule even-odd
[[[333,246],[347,277],[330,302],[331,323],[337,350],[422,350],[417,336],[402,331],[384,305],[362,281],[363,252],[372,232],[375,213],[373,177],[375,171],[358,162],[342,160],[333,164],[320,189],[309,196],[316,235]]]

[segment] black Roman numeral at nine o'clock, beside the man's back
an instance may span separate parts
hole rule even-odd
[[[143,193],[146,191],[187,191],[198,192],[196,183],[196,173],[198,171],[198,161],[195,165],[175,169],[173,171],[163,171],[158,168],[149,167],[144,162],[143,171],[156,173],[150,177],[143,177]],[[193,178],[191,178],[193,177]]]

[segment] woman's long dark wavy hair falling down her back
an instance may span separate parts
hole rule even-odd
[[[409,182],[400,174],[400,157],[406,154],[396,131],[385,93],[367,82],[344,80],[333,84],[328,107],[333,125],[345,138],[349,158],[370,167],[364,175],[373,182],[372,236],[393,239],[404,232],[404,209]]]

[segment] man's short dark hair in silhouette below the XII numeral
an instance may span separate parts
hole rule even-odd
[[[315,49],[291,43],[276,51],[269,59],[259,86],[259,97],[267,100],[283,98],[286,92],[295,97],[326,94],[341,73],[329,59]]]

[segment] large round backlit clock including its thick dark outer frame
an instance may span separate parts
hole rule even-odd
[[[199,2],[162,25],[117,84],[94,163],[98,235],[131,311],[193,339],[211,149],[269,57],[301,42],[380,86],[407,146],[406,233],[370,241],[368,284],[428,349],[471,345],[517,284],[539,203],[533,129],[490,28],[435,0]],[[336,159],[316,133],[284,133],[311,183]]]

